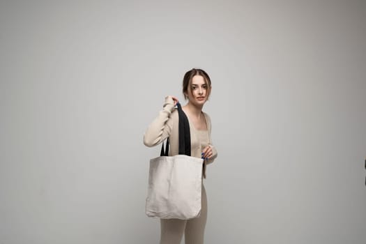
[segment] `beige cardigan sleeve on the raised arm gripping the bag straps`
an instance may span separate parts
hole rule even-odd
[[[145,146],[156,146],[169,137],[173,125],[170,118],[174,109],[173,98],[171,98],[171,96],[167,96],[162,110],[153,122],[148,125],[148,128],[144,133]]]

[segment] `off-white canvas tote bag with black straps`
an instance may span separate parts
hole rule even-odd
[[[169,155],[169,138],[160,157],[150,160],[146,215],[189,220],[201,213],[203,160],[190,156],[190,124],[178,103],[179,154]]]

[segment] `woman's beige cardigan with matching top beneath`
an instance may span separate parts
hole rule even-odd
[[[210,164],[218,156],[215,146],[211,143],[211,119],[204,113],[208,130],[196,130],[190,123],[191,155],[201,158],[202,148],[211,146],[213,155],[205,161],[203,175],[206,178],[206,164]],[[189,120],[189,118],[188,118]],[[200,135],[201,134],[201,135]],[[204,134],[204,135],[202,135]],[[171,96],[165,98],[163,109],[159,115],[148,125],[144,134],[146,146],[156,146],[169,137],[169,155],[178,154],[178,111],[174,107],[174,100]]]

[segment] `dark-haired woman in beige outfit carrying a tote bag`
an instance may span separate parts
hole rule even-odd
[[[193,68],[185,73],[183,78],[183,95],[187,105],[183,112],[190,123],[191,155],[204,158],[202,177],[206,178],[206,164],[213,162],[218,153],[211,144],[211,119],[202,112],[205,102],[211,94],[211,79],[201,69]],[[178,112],[174,108],[178,99],[167,96],[162,111],[148,126],[144,134],[146,146],[156,146],[169,137],[169,155],[178,154]],[[207,197],[202,184],[201,215],[191,220],[160,219],[161,236],[160,244],[179,244],[183,233],[186,244],[204,243],[204,229],[207,220]]]

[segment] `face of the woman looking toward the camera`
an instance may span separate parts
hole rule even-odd
[[[192,78],[192,82],[188,87],[188,100],[195,105],[204,105],[208,98],[208,85],[206,84],[204,77],[201,75],[195,75]]]

